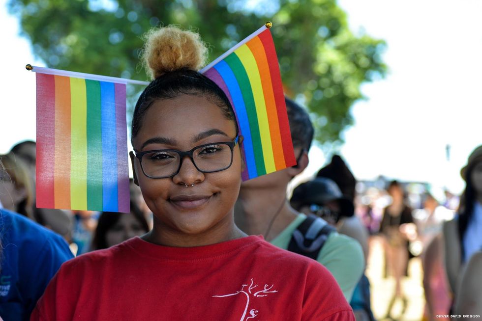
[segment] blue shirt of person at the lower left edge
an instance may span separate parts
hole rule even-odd
[[[29,320],[50,279],[72,252],[60,235],[5,209],[0,209],[0,237],[0,317]]]

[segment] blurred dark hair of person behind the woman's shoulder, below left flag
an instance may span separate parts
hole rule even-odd
[[[146,233],[149,232],[149,224],[147,222],[147,219],[134,202],[130,202],[130,213],[132,213],[137,219],[137,221],[141,223],[141,226],[146,231]],[[97,227],[95,228],[92,238],[92,250],[100,250],[108,247],[105,237],[107,235],[107,232],[117,223],[117,221],[121,217],[121,214],[128,213],[102,212],[100,214],[99,220],[97,221]]]

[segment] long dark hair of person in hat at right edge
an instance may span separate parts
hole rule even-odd
[[[474,216],[474,201],[477,196],[476,190],[470,178],[473,169],[474,169],[474,166],[470,166],[466,170],[466,174],[465,174],[466,185],[465,185],[464,191],[462,192],[462,195],[460,196],[460,203],[457,210],[457,215],[458,215],[457,229],[458,229],[458,237],[460,239],[460,245],[462,248],[462,260],[466,259],[463,257],[464,256],[463,238],[464,238],[465,232],[467,231],[469,223],[472,219],[472,216]]]

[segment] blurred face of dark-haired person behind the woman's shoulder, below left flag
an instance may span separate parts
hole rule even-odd
[[[141,236],[147,231],[142,227],[134,214],[120,213],[121,217],[105,234],[107,247],[120,244],[130,238]]]

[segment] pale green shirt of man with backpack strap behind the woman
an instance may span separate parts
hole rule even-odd
[[[288,249],[293,232],[305,218],[305,214],[299,214],[271,241],[271,244],[285,250]],[[332,232],[318,254],[317,261],[328,268],[338,282],[346,300],[350,302],[353,291],[365,269],[365,259],[360,243],[346,235]]]

